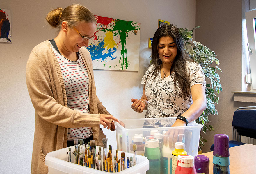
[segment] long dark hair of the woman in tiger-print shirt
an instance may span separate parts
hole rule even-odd
[[[155,79],[158,75],[157,72],[158,70],[160,70],[160,66],[162,64],[162,61],[159,58],[159,53],[158,53],[158,43],[159,43],[159,39],[165,36],[172,37],[177,46],[177,55],[170,69],[170,72],[175,72],[174,78],[171,75],[171,78],[174,81],[174,88],[175,89],[177,88],[177,82],[178,82],[179,87],[182,89],[182,94],[184,95],[184,97],[189,97],[190,85],[189,85],[189,75],[186,70],[186,61],[192,61],[192,60],[189,59],[189,57],[184,52],[184,44],[182,41],[182,37],[179,34],[178,28],[173,24],[163,25],[159,27],[154,34],[153,42],[152,42],[152,52],[151,52],[152,61],[150,65],[154,64],[155,68],[150,73],[147,80],[150,79],[153,75],[155,76],[154,77]],[[145,88],[145,84],[144,84],[144,88]]]

